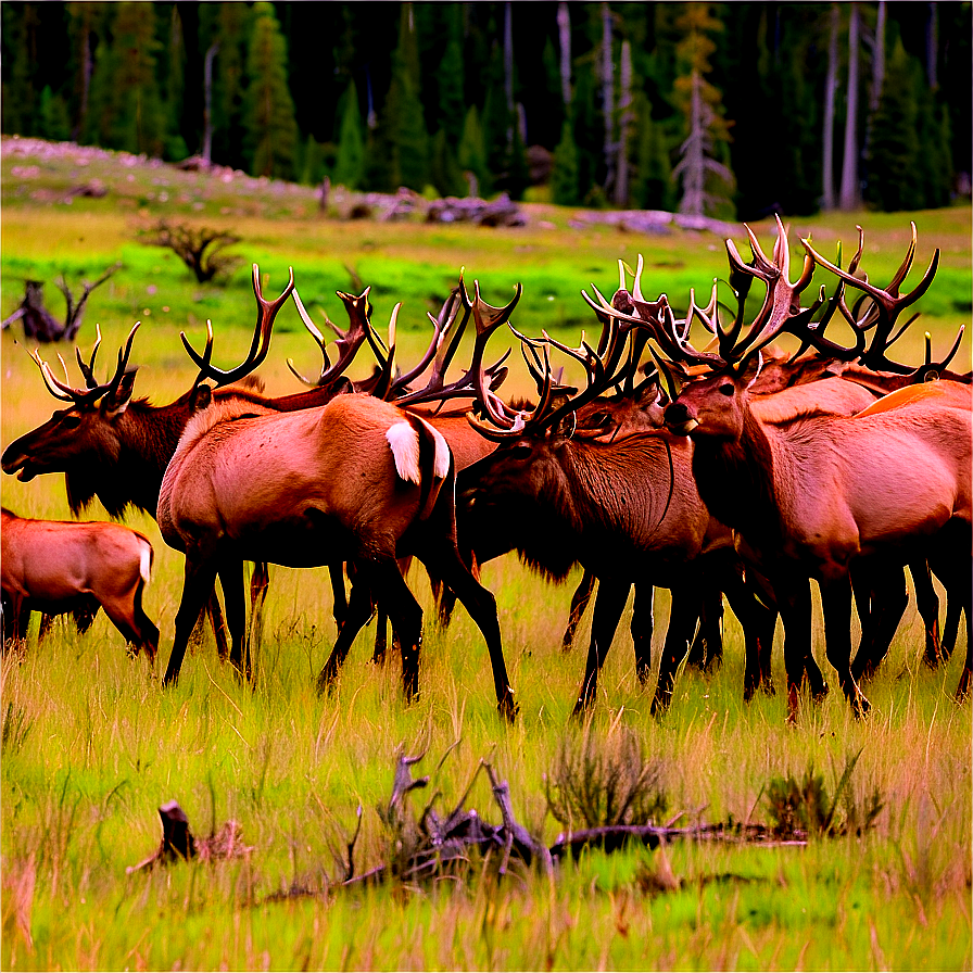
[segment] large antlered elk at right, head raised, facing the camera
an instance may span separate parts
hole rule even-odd
[[[859,361],[875,370],[918,371],[890,361],[887,349],[898,337],[893,337],[898,315],[932,282],[938,251],[919,285],[900,294],[914,256],[914,225],[912,244],[886,289],[854,275],[863,245],[860,231],[858,253],[847,271],[803,240],[804,269],[793,283],[780,220],[772,261],[753,232],[747,232],[750,264],[743,262],[732,240],[726,241],[731,286],[734,280],[756,278],[764,282],[766,294],[743,337],[742,299],[728,329],[717,315],[710,323],[719,353],[699,352],[688,343],[688,329],[675,326],[665,295],[653,307],[645,306],[648,313],[639,308],[637,320],[664,356],[707,367],[707,374],[688,381],[681,392],[673,384],[666,424],[674,433],[692,437],[693,472],[700,494],[773,579],[785,628],[791,717],[796,715],[801,664],[810,650],[806,579],[819,583],[827,659],[852,710],[861,715],[869,703],[851,672],[849,570],[857,566],[882,573],[888,565],[901,565],[917,555],[927,557],[950,598],[958,598],[966,612],[966,660],[957,691],[962,697],[969,690],[971,662],[970,389],[943,381],[934,391],[909,392],[895,402],[883,400],[855,417],[807,414],[778,427],[760,420],[749,396],[761,366],[760,349],[784,330],[819,352]],[[809,307],[801,307],[799,298],[816,266],[839,281],[824,316],[812,327],[813,314],[824,305],[823,293]],[[847,307],[846,285],[864,292],[863,314]],[[850,348],[824,337],[835,309],[852,329]],[[649,316],[652,324],[646,325]],[[958,344],[959,339],[950,356]]]

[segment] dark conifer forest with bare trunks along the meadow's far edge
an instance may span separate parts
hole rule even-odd
[[[755,218],[970,192],[971,4],[24,3],[2,130]]]

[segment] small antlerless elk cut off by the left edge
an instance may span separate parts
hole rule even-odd
[[[154,664],[159,629],[142,609],[154,557],[148,538],[119,523],[31,520],[5,507],[2,528],[4,647],[26,639],[31,611],[71,612],[87,628],[101,607]]]

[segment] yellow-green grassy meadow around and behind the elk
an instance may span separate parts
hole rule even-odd
[[[84,160],[80,162],[79,160]],[[343,222],[321,216],[311,189],[224,181],[144,162],[62,151],[30,154],[3,143],[2,291],[0,313],[16,307],[27,277],[43,280],[60,312],[54,280],[77,287],[115,262],[121,267],[91,296],[78,343],[87,352],[94,323],[104,336],[100,367],[136,320],[142,327],[132,362],[136,395],[161,404],[195,376],[178,334],[200,348],[211,318],[214,361],[239,361],[250,342],[253,296],[249,265],[260,264],[266,295],[279,293],[293,266],[305,305],[343,325],[337,289],[355,278],[372,286],[381,329],[392,305],[400,315],[400,361],[414,361],[435,311],[460,267],[479,279],[483,296],[505,303],[522,281],[516,326],[542,328],[577,344],[597,323],[580,296],[591,282],[610,294],[617,261],[646,258],[647,293],[665,290],[673,304],[691,287],[708,292],[725,276],[722,241],[678,231],[644,237],[610,227],[580,227],[570,211],[528,207],[517,229],[471,229],[416,223]],[[79,180],[101,180],[101,199],[71,197]],[[138,242],[140,227],[161,217],[231,229],[241,265],[228,282],[197,285],[169,252]],[[971,311],[969,205],[914,214],[831,214],[792,220],[845,260],[865,232],[863,265],[880,283],[905,254],[909,220],[919,231],[918,280],[942,249],[940,268],[918,309],[923,316],[897,345],[921,361],[923,329],[946,349]],[[769,222],[754,226],[769,248]],[[736,236],[743,247],[745,235]],[[921,266],[918,266],[921,265]],[[914,332],[914,333],[912,333]],[[58,404],[35,365],[3,332],[2,444],[45,421]],[[509,342],[500,336],[497,354]],[[64,354],[73,380],[73,349]],[[68,353],[71,357],[68,357]],[[286,361],[316,372],[319,354],[295,311],[281,312],[267,363],[269,391],[300,388]],[[969,338],[961,350],[970,365]],[[365,363],[356,368],[365,369]],[[953,366],[957,367],[957,366]],[[55,365],[60,369],[60,365]],[[55,370],[55,374],[58,371]],[[505,391],[530,393],[514,366]],[[66,519],[63,478],[21,483],[4,477],[3,505],[23,516]],[[103,517],[100,508],[89,516]],[[181,591],[181,557],[166,547],[154,521],[127,519],[155,547],[146,609],[162,630],[160,660],[172,645]],[[920,659],[922,628],[914,602],[888,658],[865,692],[872,712],[852,719],[823,660],[820,614],[816,653],[832,683],[827,698],[803,702],[796,726],[786,699],[742,702],[743,639],[726,616],[725,660],[704,677],[680,673],[673,705],[648,715],[653,684],[635,678],[628,635],[631,606],[619,628],[585,724],[569,713],[583,671],[586,624],[578,648],[564,655],[572,576],[551,586],[516,559],[488,564],[484,584],[500,607],[507,667],[520,705],[510,728],[494,709],[489,659],[463,609],[451,627],[432,622],[425,572],[409,583],[427,611],[420,688],[406,706],[394,659],[372,665],[375,624],[356,640],[331,696],[314,680],[334,637],[331,595],[323,570],[271,568],[256,682],[241,684],[206,637],[187,655],[178,684],[163,691],[159,668],[129,659],[121,635],[99,616],[80,636],[64,623],[41,645],[37,621],[23,652],[0,664],[2,761],[3,969],[814,969],[955,970],[973,963],[971,935],[971,708],[951,698],[960,645],[935,671]],[[940,590],[942,592],[942,590]],[[667,595],[657,594],[654,655],[665,631]],[[779,631],[780,640],[780,631]],[[774,658],[784,685],[780,645]],[[590,746],[606,758],[634,741],[658,768],[661,820],[770,822],[773,781],[820,774],[833,796],[857,755],[845,812],[879,795],[881,811],[862,834],[811,835],[806,845],[677,842],[650,851],[632,847],[586,851],[554,876],[495,862],[472,862],[465,881],[388,883],[341,889],[337,858],[363,808],[355,847],[359,871],[393,854],[378,810],[389,799],[397,756],[425,753],[417,773],[431,774],[443,809],[464,793],[488,759],[509,783],[518,820],[546,844],[563,825],[545,793],[556,791],[558,760]],[[127,873],[160,842],[156,809],[176,799],[197,835],[229,819],[252,850],[241,859],[180,863]],[[480,775],[468,807],[497,820]],[[657,822],[658,823],[658,822]]]

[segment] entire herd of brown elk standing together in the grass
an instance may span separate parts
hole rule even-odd
[[[104,383],[94,377],[100,332],[88,362],[77,354],[80,388],[71,384],[66,368],[59,379],[35,352],[48,391],[65,407],[11,443],[2,468],[22,481],[63,472],[74,515],[96,497],[114,518],[128,507],[144,510],[166,544],[185,555],[164,684],[178,678],[192,631],[205,617],[220,655],[251,678],[267,565],[327,566],[338,635],[319,692],[333,684],[355,636],[378,610],[392,623],[410,699],[419,691],[422,611],[404,574],[417,559],[429,573],[441,621],[458,599],[480,629],[497,707],[514,719],[496,601],[479,568],[516,549],[553,580],[583,568],[566,647],[597,583],[576,712],[595,698],[634,586],[631,631],[643,683],[652,674],[653,592],[671,593],[654,713],[671,702],[687,654],[700,665],[720,658],[725,597],[744,634],[747,699],[773,691],[780,617],[794,719],[803,685],[816,697],[827,692],[812,650],[816,581],[824,655],[860,716],[869,708],[863,681],[887,653],[906,609],[906,568],[930,666],[949,657],[965,616],[966,655],[956,693],[963,699],[971,679],[973,400],[970,374],[947,368],[962,329],[943,361],[933,361],[928,336],[923,364],[889,357],[914,319],[899,318],[928,289],[938,251],[920,282],[902,291],[914,226],[906,258],[885,288],[860,270],[860,229],[847,268],[801,240],[803,266],[792,281],[780,219],[771,256],[747,233],[749,261],[726,241],[729,306],[715,285],[705,307],[691,292],[678,317],[665,293],[644,296],[640,257],[631,289],[620,263],[610,300],[597,289],[594,296],[582,292],[601,332],[591,343],[582,336],[578,348],[546,331],[529,337],[514,328],[519,285],[508,305],[494,307],[478,285],[470,294],[460,276],[439,315],[429,315],[428,350],[405,371],[395,362],[400,305],[386,343],[371,324],[368,290],[339,293],[350,324],[342,331],[328,321],[338,336],[332,364],[293,271],[269,301],[254,265],[257,318],[245,359],[215,367],[208,323],[202,353],[184,334],[199,374],[168,405],[132,397],[137,369],[128,363],[138,325]],[[819,285],[803,304],[816,271],[830,293]],[[748,313],[754,280],[763,286],[762,301]],[[253,372],[289,300],[324,364],[319,376],[302,379],[309,389],[275,397]],[[469,367],[447,382],[470,319]],[[536,384],[535,404],[497,393],[506,355],[485,365],[488,342],[505,325]],[[799,345],[792,355],[772,344],[785,333]],[[345,372],[366,343],[377,364],[368,379],[353,382]],[[555,377],[553,356],[583,369],[583,388],[563,384],[561,372]],[[25,639],[31,610],[42,612],[43,634],[59,614],[73,615],[84,631],[101,608],[132,650],[144,648],[154,660],[159,629],[141,605],[153,553],[142,534],[114,522],[29,520],[7,509],[2,528],[4,646]],[[250,622],[248,560],[255,565]],[[947,596],[942,635],[933,578]],[[861,620],[854,657],[852,602]],[[381,650],[377,644],[377,657]]]

